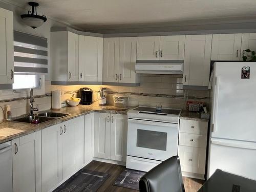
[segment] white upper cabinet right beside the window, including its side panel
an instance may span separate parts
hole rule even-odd
[[[51,32],[51,70],[52,81],[78,81],[79,35]]]

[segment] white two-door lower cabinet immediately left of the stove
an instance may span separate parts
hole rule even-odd
[[[127,115],[95,113],[94,157],[125,161]]]

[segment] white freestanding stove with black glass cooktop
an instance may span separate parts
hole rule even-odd
[[[181,110],[139,106],[128,115],[126,167],[147,172],[178,154]]]

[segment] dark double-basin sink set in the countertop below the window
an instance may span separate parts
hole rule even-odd
[[[16,122],[24,122],[24,123],[44,123],[53,119],[61,118],[61,117],[66,117],[69,114],[67,113],[55,113],[55,112],[44,112],[44,113],[39,113],[37,115],[28,115],[25,117],[17,118],[12,121]]]

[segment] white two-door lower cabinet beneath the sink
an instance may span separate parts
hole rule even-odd
[[[41,131],[42,191],[50,191],[83,165],[84,116]]]

